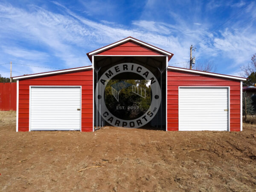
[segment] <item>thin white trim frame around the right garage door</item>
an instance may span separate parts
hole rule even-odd
[[[230,131],[230,87],[229,86],[179,86],[178,87],[178,131],[180,131],[180,88],[227,88],[228,91],[228,128]]]

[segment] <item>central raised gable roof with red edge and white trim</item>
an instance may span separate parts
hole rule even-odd
[[[92,52],[88,52],[88,53],[87,53],[87,56],[88,56],[88,58],[90,59],[90,61],[92,61],[92,56],[93,56],[93,55],[98,55],[98,54],[100,54],[100,53],[103,52],[103,51],[106,51],[106,50],[111,49],[111,48],[113,48],[113,47],[119,46],[120,44],[124,44],[124,43],[126,43],[126,42],[128,42],[128,41],[131,41],[131,42],[134,42],[134,43],[136,43],[136,44],[142,45],[143,47],[148,48],[148,49],[151,49],[151,50],[153,50],[154,52],[159,52],[159,53],[161,53],[162,55],[166,55],[166,56],[168,56],[168,61],[169,61],[169,60],[172,58],[172,56],[173,56],[173,54],[172,54],[171,52],[165,51],[165,50],[160,49],[160,48],[158,48],[158,47],[155,47],[155,46],[153,46],[153,45],[151,45],[151,44],[147,44],[147,43],[145,43],[145,42],[143,42],[143,41],[140,41],[140,40],[138,40],[138,39],[136,39],[136,38],[133,38],[133,37],[128,37],[128,38],[122,39],[122,40],[120,40],[120,41],[117,41],[117,42],[115,42],[115,43],[113,43],[113,44],[109,44],[109,45],[107,45],[107,46],[105,46],[105,47],[96,49],[96,50],[94,50],[94,51],[92,51]],[[134,56],[136,56],[136,55],[134,55]]]

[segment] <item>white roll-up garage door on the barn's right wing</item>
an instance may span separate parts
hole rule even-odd
[[[228,88],[179,88],[179,131],[228,131]]]

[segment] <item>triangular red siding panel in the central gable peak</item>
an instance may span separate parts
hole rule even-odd
[[[126,42],[116,47],[100,52],[97,55],[163,55],[160,52],[149,49],[134,42]]]

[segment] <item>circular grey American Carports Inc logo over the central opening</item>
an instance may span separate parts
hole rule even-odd
[[[157,78],[134,63],[117,64],[103,73],[96,85],[100,115],[116,127],[139,128],[153,119],[161,103]]]

